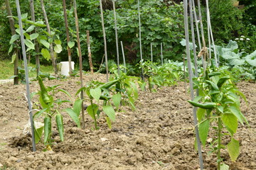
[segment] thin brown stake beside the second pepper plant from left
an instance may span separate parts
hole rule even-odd
[[[74,12],[75,12],[75,28],[76,28],[76,35],[77,35],[77,41],[78,41],[78,55],[79,55],[79,69],[80,69],[80,85],[81,88],[82,85],[82,52],[81,52],[81,46],[80,46],[80,38],[79,38],[79,24],[78,24],[78,12],[77,12],[77,6],[76,1],[74,0]],[[81,91],[81,99],[83,101],[84,94],[83,91]],[[85,129],[85,111],[84,106],[82,102],[82,129]]]

